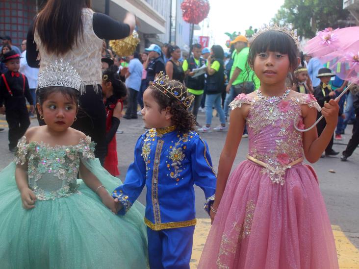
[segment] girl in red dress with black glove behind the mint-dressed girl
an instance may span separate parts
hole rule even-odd
[[[125,83],[120,80],[117,73],[117,66],[110,66],[103,72],[102,92],[104,96],[104,105],[106,109],[106,143],[107,154],[103,167],[113,176],[120,175],[117,168],[117,147],[116,130],[120,125],[122,109],[124,107],[123,99],[127,96]]]

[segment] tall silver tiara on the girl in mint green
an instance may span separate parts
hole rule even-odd
[[[38,82],[38,89],[56,86],[74,88],[79,91],[81,77],[70,63],[64,63],[60,59],[60,62],[55,61],[54,65],[50,64],[39,73]]]

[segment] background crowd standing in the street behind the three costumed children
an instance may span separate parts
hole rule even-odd
[[[122,107],[126,109],[126,113],[123,116],[121,114],[120,117],[130,120],[137,119],[141,116],[141,109],[144,107],[143,93],[162,71],[166,73],[170,79],[184,83],[188,92],[194,96],[194,102],[190,110],[196,117],[198,132],[210,133],[213,130],[226,132],[228,130],[229,104],[231,101],[238,94],[249,94],[257,90],[260,86],[256,74],[248,67],[247,63],[250,41],[255,33],[255,31],[252,33],[253,30],[251,30],[251,28],[247,30],[248,33],[246,32],[246,36],[238,35],[231,41],[231,49],[228,52],[225,52],[223,48],[218,45],[214,45],[209,49],[202,48],[200,44],[194,44],[191,46],[191,53],[188,57],[183,57],[180,47],[171,44],[164,44],[162,47],[152,44],[143,52],[135,51],[133,55],[121,57],[121,55],[116,55],[111,49],[107,48],[106,42],[103,40],[101,52],[102,72],[111,66],[116,66],[120,80],[125,82],[128,89],[127,95],[121,98],[123,103]],[[3,37],[2,42],[3,45],[0,56],[3,60],[0,64],[0,73],[6,73],[8,69],[3,55],[10,50],[18,52],[17,50],[20,51],[20,49],[12,45],[11,37],[9,36]],[[21,50],[22,52],[19,53],[19,55],[21,55],[19,71],[26,76],[32,100],[35,102],[35,90],[37,87],[37,74],[39,69],[37,67],[30,67],[27,64],[26,40],[23,40]],[[205,73],[200,72],[201,74],[198,75],[193,72],[193,69],[198,71],[204,66]],[[334,79],[329,79],[328,83],[324,83],[324,88],[329,88],[327,90],[328,95],[323,97],[323,91],[320,88],[321,85],[323,85],[323,83],[321,83],[322,79],[320,79],[322,75],[319,74],[319,70],[322,68],[325,68],[325,66],[319,59],[301,53],[301,63],[293,73],[288,74],[286,84],[294,91],[313,94],[318,100],[323,98],[328,99],[329,97],[335,98],[345,89],[347,82],[341,80],[335,74],[330,74],[328,77],[333,77]],[[332,71],[328,72],[332,73]],[[315,91],[316,88],[318,88],[317,91]],[[344,134],[347,124],[354,124],[356,122],[356,102],[354,102],[354,100],[357,99],[355,97],[357,92],[357,87],[354,87],[348,92],[345,98],[341,98],[339,101],[340,115],[333,136],[333,139],[337,141],[343,140],[342,134]],[[324,102],[320,103],[324,104]],[[138,106],[140,106],[140,109]],[[216,111],[215,115],[219,117],[220,125],[211,128],[213,109]],[[201,124],[197,121],[199,111],[205,113],[205,123]],[[319,114],[318,117],[320,116]],[[36,117],[36,113],[29,110],[29,117]],[[10,118],[9,121],[11,133],[13,130],[12,126],[14,125],[11,123],[12,120]],[[93,121],[93,118],[90,121]],[[24,126],[24,124],[20,124],[20,119],[18,122],[15,121],[14,124]],[[324,127],[325,121],[322,120],[318,125],[318,133],[320,133]],[[21,127],[19,128],[21,129]],[[26,130],[26,128],[27,127],[23,127],[24,130]],[[355,148],[355,143],[358,140],[357,136],[354,135],[355,131],[356,125],[353,130],[353,138],[350,140],[350,146],[348,146],[349,148]],[[123,131],[118,129],[116,132],[122,133]],[[23,133],[24,131],[20,132],[20,134]],[[13,135],[11,135],[11,138],[9,136],[9,141],[13,137]],[[96,139],[96,136],[92,137]],[[243,137],[248,137],[246,127],[243,132]],[[17,140],[15,139],[15,141]],[[10,144],[9,149],[14,151],[16,142]],[[333,141],[323,153],[323,157],[325,155],[339,154],[339,152],[333,150],[332,147]],[[104,152],[105,150],[100,151]],[[349,153],[351,151],[352,150],[346,150],[343,152],[341,160],[345,161],[352,154]]]

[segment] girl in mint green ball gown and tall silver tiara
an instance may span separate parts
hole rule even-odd
[[[3,269],[148,267],[144,207],[113,213],[107,190],[122,183],[95,158],[90,137],[70,127],[79,85],[62,62],[39,74],[37,108],[47,125],[28,129],[0,172]]]

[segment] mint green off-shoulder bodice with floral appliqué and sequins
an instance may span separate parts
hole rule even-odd
[[[15,163],[27,162],[28,185],[40,200],[49,200],[77,193],[80,158],[94,158],[91,138],[81,139],[75,146],[54,146],[30,142],[24,136],[16,153]]]

